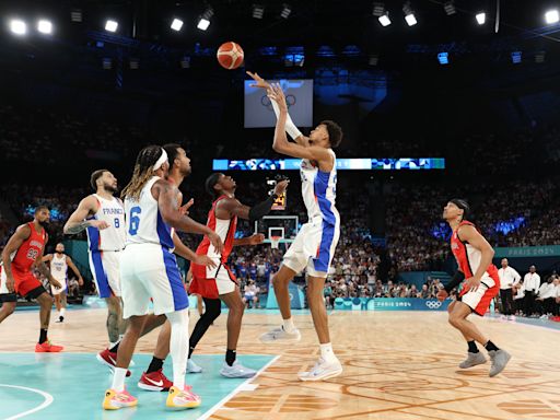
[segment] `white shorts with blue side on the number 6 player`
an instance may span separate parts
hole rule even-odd
[[[124,318],[188,307],[188,296],[175,255],[156,244],[128,245],[120,259]]]

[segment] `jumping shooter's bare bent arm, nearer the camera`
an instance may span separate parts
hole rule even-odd
[[[290,143],[285,137],[285,120],[288,116],[288,105],[285,104],[285,96],[279,85],[272,85],[269,90],[268,96],[271,101],[276,102],[280,108],[280,116],[276,124],[275,141],[272,149],[282,154],[292,158],[308,159],[317,161],[319,165],[323,163],[328,166],[332,163],[332,156],[327,149],[317,145],[303,147],[301,144]]]

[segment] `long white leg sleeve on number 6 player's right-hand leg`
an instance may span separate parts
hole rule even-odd
[[[183,390],[188,358],[188,310],[166,314],[171,323],[170,353],[173,360],[173,385]]]

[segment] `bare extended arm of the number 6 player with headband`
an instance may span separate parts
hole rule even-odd
[[[177,203],[177,187],[161,179],[154,184],[153,188],[156,194],[158,207],[165,223],[182,232],[207,235],[219,253],[223,249],[222,240],[214,231],[180,213]]]

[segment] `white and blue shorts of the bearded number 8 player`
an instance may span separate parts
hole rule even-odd
[[[120,296],[120,257],[122,252],[91,250],[90,269],[100,298]]]

